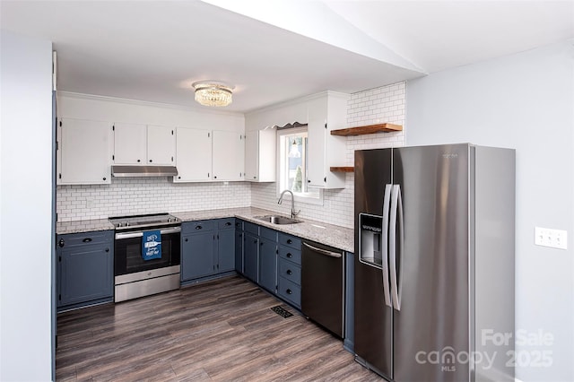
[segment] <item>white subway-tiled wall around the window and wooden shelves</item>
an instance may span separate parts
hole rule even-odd
[[[404,88],[405,83],[383,86],[369,91],[360,91],[351,95],[347,105],[347,126],[365,126],[380,123],[404,125]],[[306,118],[304,119],[306,120]],[[286,119],[286,122],[292,122]],[[273,123],[262,124],[263,127]],[[404,132],[379,133],[346,137],[346,165],[354,164],[354,151],[381,147],[399,147],[403,145]],[[323,205],[299,203],[301,219],[312,219],[336,224],[347,228],[353,226],[354,211],[354,174],[347,173],[343,189],[325,190]],[[254,183],[251,185],[251,204],[267,210],[288,214],[291,204],[277,204],[275,183]]]

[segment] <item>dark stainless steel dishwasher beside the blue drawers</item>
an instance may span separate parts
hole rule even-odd
[[[303,240],[301,312],[344,338],[344,252]]]

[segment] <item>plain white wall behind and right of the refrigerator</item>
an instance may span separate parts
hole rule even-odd
[[[534,341],[517,343],[523,381],[574,380],[573,56],[569,41],[407,83],[406,144],[516,149],[516,329]],[[535,226],[567,230],[569,249],[535,246]],[[536,365],[544,352],[551,366]]]

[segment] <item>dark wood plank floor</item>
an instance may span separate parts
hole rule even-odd
[[[382,380],[239,276],[65,312],[57,334],[57,381]]]

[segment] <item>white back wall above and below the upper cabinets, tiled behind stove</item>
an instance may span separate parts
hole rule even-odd
[[[71,93],[59,93],[57,106],[58,117],[245,131],[244,117],[239,113],[200,112],[192,108]],[[250,187],[246,182],[174,184],[167,177],[112,178],[110,185],[57,187],[58,221],[245,207],[250,203]]]

